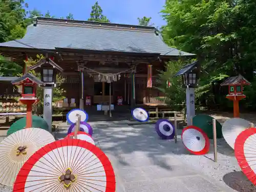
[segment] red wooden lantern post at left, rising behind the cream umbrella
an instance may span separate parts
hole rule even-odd
[[[36,98],[37,85],[43,84],[37,77],[30,73],[24,74],[12,81],[12,84],[19,86],[22,97],[19,101],[27,105],[26,128],[32,127],[32,105],[38,102]]]

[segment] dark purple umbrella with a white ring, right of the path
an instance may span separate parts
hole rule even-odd
[[[155,126],[156,132],[162,139],[173,139],[175,135],[174,125],[166,119],[159,119]]]

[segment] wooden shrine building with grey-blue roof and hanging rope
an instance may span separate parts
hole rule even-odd
[[[22,39],[1,43],[0,54],[22,66],[37,54],[52,58],[63,69],[69,106],[81,99],[86,106],[86,98],[92,106],[117,105],[118,98],[123,105],[160,103],[155,87],[164,63],[195,56],[168,47],[155,27],[44,17]]]

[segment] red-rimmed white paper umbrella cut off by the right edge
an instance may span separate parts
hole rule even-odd
[[[243,173],[256,185],[256,129],[251,127],[241,132],[234,144],[234,154]]]

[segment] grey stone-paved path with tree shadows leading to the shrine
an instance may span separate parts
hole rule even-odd
[[[92,122],[94,140],[112,162],[117,192],[229,192],[234,191],[175,157],[167,141],[152,125]],[[148,126],[148,129],[146,127]],[[66,135],[68,126],[60,125]]]

